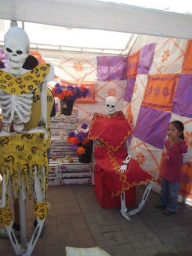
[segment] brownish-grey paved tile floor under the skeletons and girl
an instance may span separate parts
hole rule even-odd
[[[137,202],[144,189],[137,188]],[[191,256],[192,207],[179,204],[177,214],[165,216],[154,208],[158,199],[152,191],[145,208],[127,221],[119,209],[101,209],[91,185],[50,187],[47,201],[52,208],[32,256],[65,256],[65,246],[100,246],[111,256]],[[30,235],[31,203],[27,208]],[[9,240],[0,240],[0,255],[15,255]]]

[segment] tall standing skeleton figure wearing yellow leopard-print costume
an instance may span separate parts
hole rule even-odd
[[[51,81],[54,70],[49,64],[38,65],[33,70],[22,68],[29,54],[29,38],[26,32],[12,27],[4,36],[4,52],[9,68],[0,70],[0,106],[3,124],[13,124],[15,132],[0,132],[0,166],[3,176],[1,189],[0,220],[6,226],[13,248],[17,255],[31,255],[47,212],[45,192],[47,188],[47,81]],[[31,116],[32,97],[35,90],[41,92],[42,127],[24,132],[24,123]],[[35,113],[33,113],[34,115]],[[21,224],[21,244],[13,232],[12,212],[7,204],[9,193],[19,198],[20,220],[25,219],[25,198],[31,197],[32,187],[35,198],[35,214],[38,225],[26,243],[25,223]],[[22,207],[21,207],[22,205]],[[5,218],[6,216],[6,218]]]

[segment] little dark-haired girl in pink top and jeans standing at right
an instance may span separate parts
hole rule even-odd
[[[162,170],[161,197],[157,209],[163,209],[169,216],[177,212],[177,198],[182,177],[182,165],[188,159],[188,146],[184,141],[184,125],[180,121],[170,122],[168,140],[165,141],[166,154]]]

